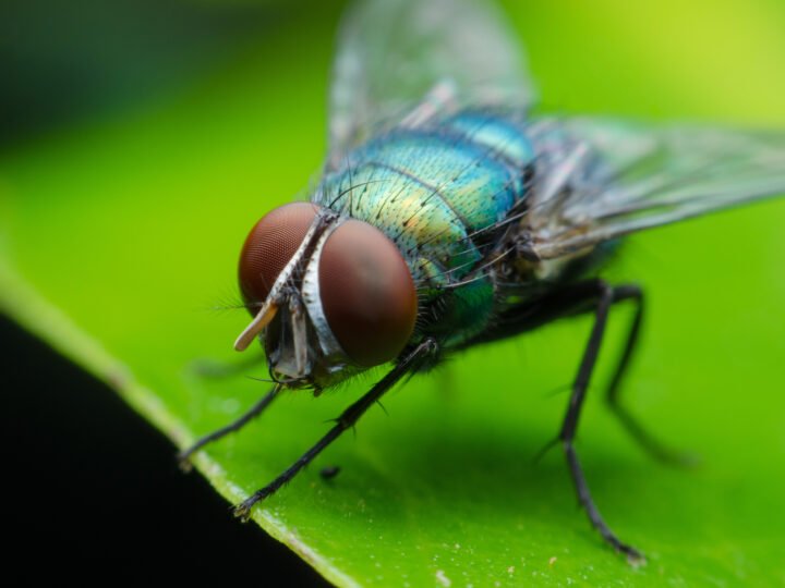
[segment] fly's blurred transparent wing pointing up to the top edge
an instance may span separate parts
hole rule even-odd
[[[488,0],[365,0],[342,23],[334,63],[329,161],[412,107],[524,108],[523,51]],[[425,107],[428,110],[428,107]]]

